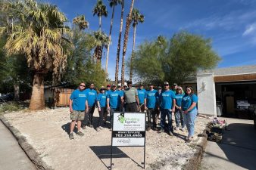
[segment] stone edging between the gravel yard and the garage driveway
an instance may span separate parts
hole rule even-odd
[[[201,159],[204,156],[204,150],[207,144],[206,130],[204,130],[204,132],[200,135],[199,138],[201,138],[200,142],[199,144],[197,144],[194,156],[187,162],[185,167],[186,170],[197,170],[198,166],[201,164]]]

